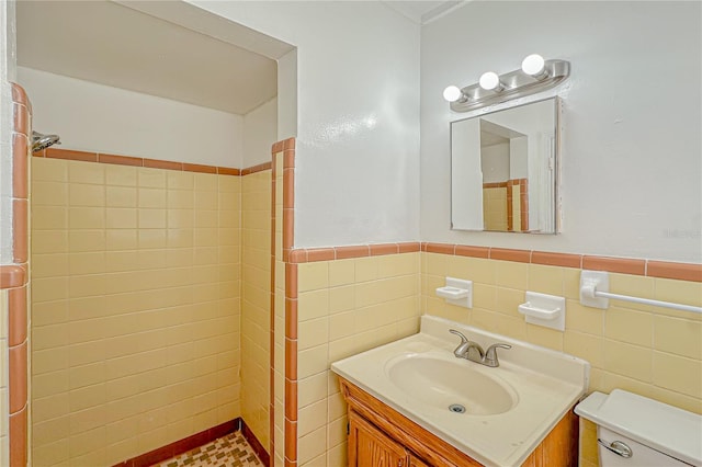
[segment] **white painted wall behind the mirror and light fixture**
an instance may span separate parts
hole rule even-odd
[[[423,26],[422,240],[702,262],[701,8],[469,2]],[[563,234],[452,231],[449,122],[469,115],[452,113],[442,90],[517,69],[532,53],[573,66],[558,89]]]

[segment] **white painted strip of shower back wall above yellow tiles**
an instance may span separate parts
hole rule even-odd
[[[31,68],[18,70],[19,83],[32,100],[34,128],[60,135],[64,148],[242,167],[239,115]]]

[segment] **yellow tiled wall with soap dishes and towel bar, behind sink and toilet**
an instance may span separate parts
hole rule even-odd
[[[611,300],[610,308],[602,310],[579,301],[580,264],[634,272],[610,272],[610,289],[618,294],[693,306],[702,306],[699,280],[646,276],[647,262],[641,269],[636,260],[442,244],[430,244],[421,254],[426,314],[585,358],[591,365],[589,391],[622,388],[702,413],[702,316],[620,300]],[[693,278],[702,267],[670,265],[670,271],[667,274]],[[448,305],[435,296],[445,276],[473,281],[473,309]],[[566,297],[565,332],[524,322],[517,307],[526,291]],[[595,425],[580,423],[580,465],[597,466]]]

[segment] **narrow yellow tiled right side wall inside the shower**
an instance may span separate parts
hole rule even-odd
[[[262,169],[262,168],[261,168]],[[241,409],[270,444],[271,170],[241,178]]]

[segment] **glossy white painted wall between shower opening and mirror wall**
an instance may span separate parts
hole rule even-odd
[[[297,47],[295,246],[417,240],[419,26],[381,2],[190,2]]]

